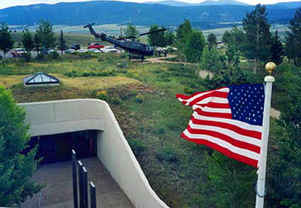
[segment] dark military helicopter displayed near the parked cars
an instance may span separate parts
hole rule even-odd
[[[123,50],[130,52],[131,54],[138,54],[140,55],[140,59],[142,59],[142,62],[144,61],[144,56],[152,56],[154,54],[154,47],[150,45],[145,45],[141,42],[138,42],[136,40],[127,40],[129,38],[136,38],[136,36],[128,36],[128,37],[121,37],[121,38],[114,38],[114,37],[108,37],[108,35],[104,33],[96,33],[95,30],[92,28],[92,25],[95,25],[95,23],[91,23],[89,25],[84,26],[84,28],[89,28],[90,33],[94,35],[95,37],[101,38],[103,41],[107,41],[115,45],[116,47],[120,47]],[[142,35],[148,35],[151,33],[159,33],[166,30],[165,28],[160,29],[160,30],[154,30],[152,32],[148,33],[142,33],[137,36],[142,36]],[[130,56],[129,56],[130,60]]]

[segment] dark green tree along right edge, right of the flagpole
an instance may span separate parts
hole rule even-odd
[[[288,77],[292,76],[293,79]],[[301,207],[301,81],[300,71],[288,69],[285,74],[286,94],[280,105],[277,120],[277,155],[271,158],[267,176],[270,207]]]

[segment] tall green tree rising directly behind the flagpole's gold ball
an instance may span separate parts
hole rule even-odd
[[[246,13],[246,18],[243,20],[246,32],[244,55],[248,59],[255,59],[254,73],[259,62],[266,62],[271,57],[271,26],[266,16],[266,6],[257,4],[254,11]]]

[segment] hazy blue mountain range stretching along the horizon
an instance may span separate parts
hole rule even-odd
[[[224,23],[242,21],[246,12],[254,9],[254,6],[250,5],[169,6],[160,2],[162,1],[156,4],[137,4],[122,1],[84,1],[13,6],[0,10],[0,22],[8,25],[35,25],[43,18],[50,21],[52,25],[86,25],[93,22],[103,25],[132,21],[134,25],[157,24],[168,27],[179,25],[188,19],[200,29],[210,29],[225,27]],[[172,2],[179,1],[169,1]],[[215,2],[236,4],[238,1]],[[293,18],[298,5],[301,5],[301,1],[294,4],[268,5],[268,20],[271,23],[278,21],[288,23],[290,18]]]

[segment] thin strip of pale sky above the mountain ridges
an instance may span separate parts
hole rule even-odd
[[[0,0],[0,9],[10,6],[19,6],[19,5],[30,5],[30,4],[56,4],[58,2],[79,2],[87,0]],[[130,1],[142,3],[145,1],[162,1],[162,0],[118,0],[118,1]],[[205,0],[176,0],[183,1],[187,3],[199,3]],[[289,2],[289,1],[299,1],[299,0],[238,0],[246,4],[276,4],[278,2]]]

